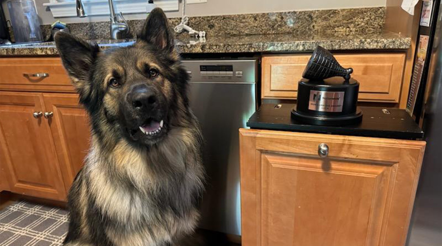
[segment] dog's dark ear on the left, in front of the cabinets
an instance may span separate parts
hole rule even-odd
[[[90,44],[61,31],[57,32],[54,39],[61,61],[72,79],[72,84],[80,96],[87,96],[91,89],[89,81],[91,67],[99,53],[98,45]]]

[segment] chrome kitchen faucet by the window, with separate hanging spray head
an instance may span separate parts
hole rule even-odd
[[[124,19],[122,12],[120,12],[118,15],[121,17],[121,19],[124,22],[118,21],[118,15],[115,15],[114,1],[113,0],[108,0],[108,1],[109,1],[109,12],[110,12],[110,38],[121,39],[122,31],[128,32],[129,25],[126,22],[126,19]],[[76,0],[76,11],[78,17],[88,16],[84,12],[84,5],[81,0]]]

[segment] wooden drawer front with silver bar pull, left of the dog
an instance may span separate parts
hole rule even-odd
[[[53,88],[72,90],[60,58],[1,58],[0,86],[6,88]],[[39,76],[39,77],[38,77]]]

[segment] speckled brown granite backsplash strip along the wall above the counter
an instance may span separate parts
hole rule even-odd
[[[384,29],[385,7],[349,8],[312,11],[271,12],[241,15],[216,15],[190,17],[188,25],[206,36],[261,35],[261,34],[330,34],[363,35],[381,33]],[[124,38],[134,38],[141,30],[144,19],[128,20],[129,33]],[[169,19],[171,27],[180,18]],[[109,22],[69,23],[73,35],[84,39],[109,38]],[[42,31],[50,36],[50,25]]]

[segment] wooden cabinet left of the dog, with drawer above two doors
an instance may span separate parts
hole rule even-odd
[[[0,189],[65,201],[90,128],[60,58],[1,58],[0,74]]]

